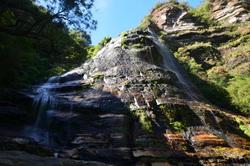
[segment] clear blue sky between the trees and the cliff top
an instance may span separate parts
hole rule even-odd
[[[149,10],[160,1],[163,0],[95,0],[93,17],[98,25],[90,34],[92,45],[97,45],[106,36],[114,38],[137,27]],[[186,1],[192,7],[200,4],[200,0]]]

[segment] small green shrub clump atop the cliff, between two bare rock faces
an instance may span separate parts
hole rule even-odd
[[[210,10],[212,9],[212,4],[210,2],[204,2],[194,9],[190,9],[189,12],[201,23],[209,26],[217,25],[217,23],[211,19]]]

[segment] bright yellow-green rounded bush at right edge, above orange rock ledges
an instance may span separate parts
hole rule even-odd
[[[244,114],[250,115],[250,78],[236,76],[226,88],[232,103]]]

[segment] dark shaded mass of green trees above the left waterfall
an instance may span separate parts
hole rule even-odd
[[[62,74],[86,60],[91,42],[86,32],[70,32],[31,0],[8,0],[0,7],[1,86]]]

